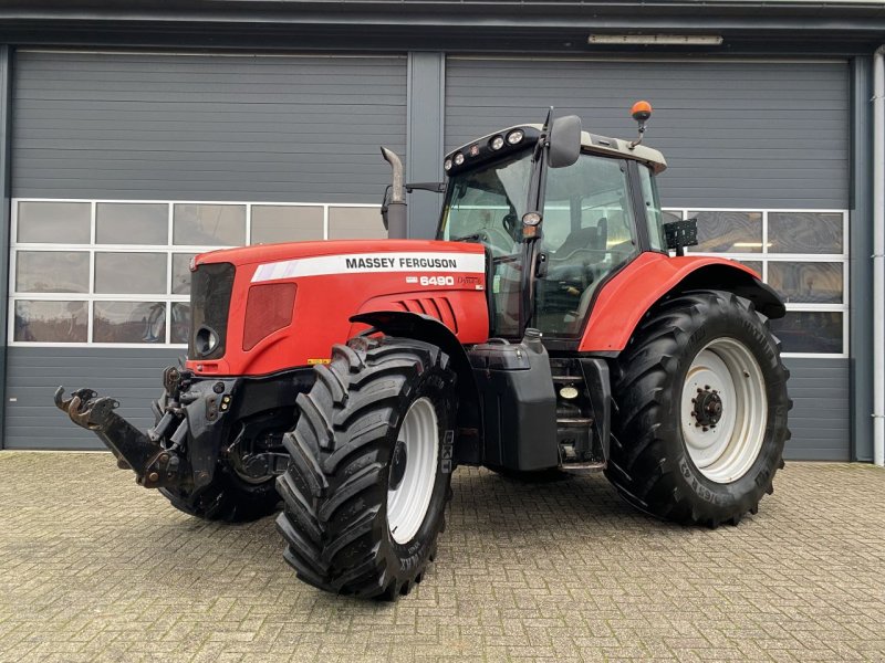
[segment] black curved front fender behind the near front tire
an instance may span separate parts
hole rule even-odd
[[[351,323],[368,325],[388,336],[414,338],[434,344],[449,356],[458,376],[458,418],[455,431],[455,461],[468,465],[482,462],[482,413],[479,389],[467,351],[452,332],[438,319],[419,313],[373,311],[361,313]]]

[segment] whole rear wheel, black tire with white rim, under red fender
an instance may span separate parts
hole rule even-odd
[[[616,362],[606,476],[655,516],[737,525],[783,467],[789,376],[747,299],[696,291],[663,302]]]

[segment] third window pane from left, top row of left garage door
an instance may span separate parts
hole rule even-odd
[[[176,204],[173,242],[189,246],[241,246],[246,243],[246,207]]]

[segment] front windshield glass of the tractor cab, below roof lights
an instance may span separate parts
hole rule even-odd
[[[439,239],[481,242],[491,249],[493,256],[516,253],[530,177],[529,151],[452,177],[447,187]]]

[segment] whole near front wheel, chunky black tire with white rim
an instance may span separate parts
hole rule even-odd
[[[451,495],[454,386],[438,347],[403,338],[357,337],[316,367],[278,480],[299,578],[391,600],[421,581]]]

